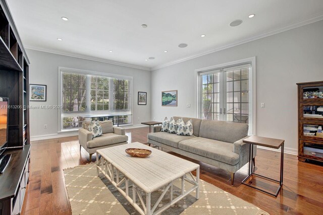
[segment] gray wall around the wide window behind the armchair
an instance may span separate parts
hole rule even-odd
[[[150,71],[30,49],[27,49],[27,54],[31,63],[29,67],[30,84],[47,85],[47,101],[30,102],[30,105],[58,105],[58,67],[62,66],[133,77],[133,124],[150,120]],[[147,105],[137,105],[138,91],[147,92]],[[31,138],[57,136],[58,119],[58,110],[31,109]],[[47,128],[44,128],[44,124],[47,124]]]

